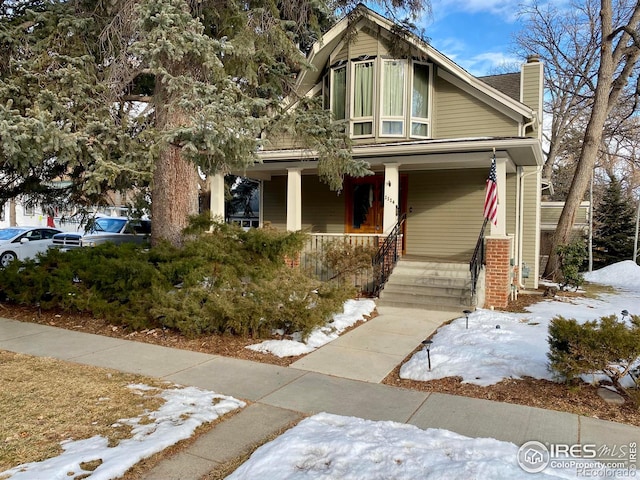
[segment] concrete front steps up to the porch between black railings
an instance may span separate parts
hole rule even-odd
[[[400,259],[380,292],[378,305],[472,309],[469,264]]]

